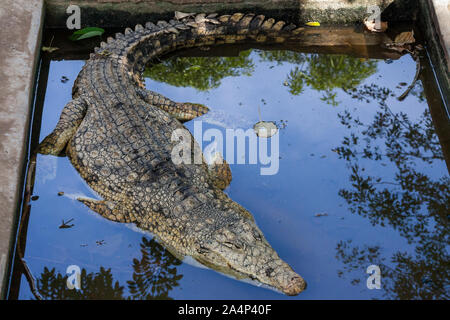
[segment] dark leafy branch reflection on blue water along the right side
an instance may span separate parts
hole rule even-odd
[[[433,163],[444,161],[430,113],[425,110],[415,121],[403,112],[394,113],[386,103],[391,90],[374,84],[347,93],[358,100],[378,102],[379,110],[368,124],[348,111],[339,114],[351,132],[335,151],[350,168],[352,186],[341,189],[339,195],[352,213],[398,231],[414,252],[397,251],[388,258],[379,246],[341,241],[336,257],[344,269],[339,276],[351,277],[358,284],[362,279],[355,275],[365,275],[367,266],[376,264],[381,268],[386,298],[448,299],[450,179],[446,173],[433,178],[426,172]],[[392,164],[392,180],[383,177],[382,168],[365,171],[364,164],[375,161]]]

